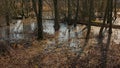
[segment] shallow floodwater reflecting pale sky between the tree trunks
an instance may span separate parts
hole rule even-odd
[[[11,40],[20,40],[20,39],[29,39],[30,33],[34,33],[34,30],[37,27],[36,22],[30,22],[30,24],[23,24],[22,20],[13,21],[14,24],[10,25],[10,39]],[[120,18],[117,18],[114,24],[120,25]],[[44,20],[43,21],[43,31],[55,35],[54,31],[54,21],[53,20]],[[59,33],[56,35],[57,40],[59,43],[68,42],[70,43],[70,46],[73,47],[75,45],[78,45],[77,38],[80,38],[83,36],[83,32],[81,31],[85,26],[78,25],[76,28],[73,28],[73,26],[67,26],[64,23],[60,23],[60,30]],[[69,32],[70,29],[70,32]],[[99,27],[92,27],[92,32],[94,35],[98,35],[99,33]],[[0,39],[6,38],[6,28],[1,28],[0,31],[1,37]],[[119,29],[113,29],[114,42],[116,44],[120,43],[120,31]],[[53,41],[52,41],[53,42]]]

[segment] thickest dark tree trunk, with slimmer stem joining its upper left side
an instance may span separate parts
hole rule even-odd
[[[38,0],[38,11],[37,11],[37,5],[36,5],[36,0],[32,0],[33,3],[33,8],[34,8],[34,12],[36,14],[37,17],[37,28],[38,28],[38,40],[42,40],[43,39],[43,26],[42,26],[42,7],[43,7],[43,1],[42,0]]]

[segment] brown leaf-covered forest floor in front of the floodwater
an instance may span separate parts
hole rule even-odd
[[[68,42],[57,44],[51,42],[53,40],[55,40],[53,35],[46,34],[46,39],[33,40],[31,46],[27,48],[17,44],[18,47],[9,55],[0,56],[0,68],[100,68],[102,55],[100,45],[95,42],[96,38],[90,38],[85,48],[69,47],[70,39]],[[77,38],[77,40],[82,42],[78,45],[84,45],[85,39]],[[111,40],[107,54],[107,68],[120,66],[119,45]]]

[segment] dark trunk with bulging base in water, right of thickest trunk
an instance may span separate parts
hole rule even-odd
[[[58,31],[60,28],[60,25],[58,23],[58,0],[53,0],[53,1],[54,1],[54,14],[55,14],[54,29],[55,31]]]

